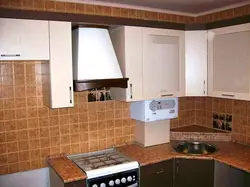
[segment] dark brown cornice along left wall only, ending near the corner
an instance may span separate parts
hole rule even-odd
[[[0,8],[0,17],[2,18],[20,18],[20,19],[38,19],[54,21],[70,21],[74,23],[91,23],[91,24],[110,24],[110,25],[130,25],[142,27],[168,28],[184,30],[185,24],[143,20],[136,18],[110,17],[100,15],[79,15],[74,13],[46,12],[33,10],[16,10]]]

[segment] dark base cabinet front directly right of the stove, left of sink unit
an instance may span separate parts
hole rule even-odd
[[[174,160],[141,167],[140,187],[173,187]]]

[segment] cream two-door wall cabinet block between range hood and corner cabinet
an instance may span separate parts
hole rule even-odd
[[[110,31],[127,89],[111,88],[112,97],[138,101],[184,95],[184,31],[119,27]]]

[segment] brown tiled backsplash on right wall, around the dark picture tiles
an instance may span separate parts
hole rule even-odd
[[[232,116],[232,140],[250,145],[250,101],[195,97],[195,124],[213,127],[213,114]]]

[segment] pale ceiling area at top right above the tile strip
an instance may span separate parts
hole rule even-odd
[[[178,11],[183,13],[198,14],[223,8],[249,0],[78,0],[83,2],[116,3],[122,5],[141,6],[166,11]]]

